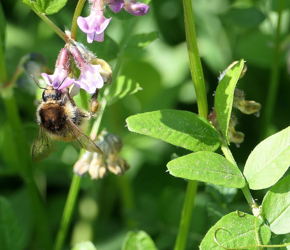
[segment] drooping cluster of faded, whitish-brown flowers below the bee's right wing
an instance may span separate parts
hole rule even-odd
[[[116,175],[122,175],[129,168],[126,160],[119,156],[122,148],[122,140],[119,136],[109,134],[103,130],[97,138],[97,145],[103,151],[103,155],[85,152],[75,163],[73,171],[77,175],[88,172],[92,179],[101,179],[108,170]]]

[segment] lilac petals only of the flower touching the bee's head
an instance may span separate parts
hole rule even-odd
[[[44,78],[44,81],[47,85],[53,86],[55,89],[59,88],[59,90],[68,87],[75,81],[75,79],[68,77],[67,70],[60,68],[55,68],[55,72],[52,75],[42,73],[41,76]],[[62,83],[62,81],[64,82]],[[60,84],[61,86],[59,86]]]

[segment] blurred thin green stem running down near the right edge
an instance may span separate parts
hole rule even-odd
[[[269,125],[273,121],[273,113],[275,109],[275,103],[277,99],[277,92],[279,87],[279,76],[280,76],[280,28],[281,28],[281,17],[284,7],[285,0],[280,0],[279,10],[278,10],[278,24],[276,29],[276,40],[275,47],[273,51],[273,62],[271,67],[271,76],[269,83],[269,90],[267,91],[267,100],[265,102],[265,112],[264,112],[264,123],[262,130],[262,138],[269,136]]]

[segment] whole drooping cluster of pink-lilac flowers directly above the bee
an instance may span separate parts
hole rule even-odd
[[[75,80],[73,77],[73,61],[80,70],[80,76]],[[70,40],[65,47],[61,49],[55,71],[52,75],[41,74],[46,84],[53,86],[55,89],[63,89],[71,84],[79,89],[93,94],[96,89],[103,87],[104,83],[110,84],[112,81],[112,70],[110,65],[98,59],[93,52],[86,46]]]

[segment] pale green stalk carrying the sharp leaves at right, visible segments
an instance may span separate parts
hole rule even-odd
[[[222,152],[224,153],[224,156],[226,157],[227,160],[229,160],[231,163],[233,163],[234,165],[237,165],[237,163],[235,162],[235,159],[233,158],[233,155],[232,155],[232,152],[231,150],[229,149],[228,145],[226,144],[226,142],[222,142],[222,144],[220,145],[220,148],[222,149]],[[248,204],[250,205],[250,208],[253,212],[253,215],[254,216],[259,216],[260,213],[261,213],[261,210],[258,206],[251,206],[251,205],[254,205],[255,204],[255,200],[253,199],[251,193],[250,193],[250,190],[249,188],[246,186],[244,186],[242,188],[242,191],[244,193],[244,196],[246,197],[246,200],[248,202]]]

